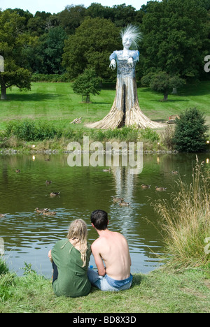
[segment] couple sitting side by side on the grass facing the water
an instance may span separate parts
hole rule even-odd
[[[120,233],[109,231],[104,210],[92,212],[91,222],[99,234],[92,246],[87,242],[85,221],[76,219],[69,226],[67,238],[59,240],[48,254],[53,269],[52,288],[57,296],[87,296],[91,284],[102,291],[130,289],[132,275],[127,240]],[[91,252],[97,272],[88,268]]]

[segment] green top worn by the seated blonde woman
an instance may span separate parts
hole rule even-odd
[[[87,296],[91,284],[87,278],[87,267],[90,261],[90,243],[87,243],[87,261],[83,267],[81,254],[69,240],[59,240],[52,249],[52,260],[58,270],[58,277],[52,288],[57,296]]]

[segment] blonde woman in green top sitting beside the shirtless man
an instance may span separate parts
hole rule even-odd
[[[90,261],[87,224],[83,219],[72,221],[64,240],[59,240],[48,256],[52,262],[52,288],[57,296],[87,296],[91,284],[87,278]]]

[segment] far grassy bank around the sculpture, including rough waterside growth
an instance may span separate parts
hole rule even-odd
[[[83,135],[90,142],[97,140],[142,141],[144,150],[172,150],[170,131],[166,130],[169,115],[179,115],[187,108],[197,108],[209,114],[210,82],[186,85],[178,94],[170,94],[163,102],[162,94],[146,87],[139,87],[139,103],[143,112],[157,122],[165,123],[162,129],[135,130],[132,127],[102,131],[89,129],[86,124],[95,122],[111,109],[115,97],[115,84],[104,84],[101,94],[91,97],[91,103],[83,103],[73,93],[71,83],[33,82],[31,91],[8,90],[7,100],[0,101],[0,147],[28,152],[34,150],[66,150],[72,140],[80,143]],[[71,124],[80,118],[80,124]]]

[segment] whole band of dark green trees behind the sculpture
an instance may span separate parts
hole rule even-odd
[[[109,55],[122,48],[120,29],[130,23],[142,33],[138,80],[144,77],[142,82],[166,97],[169,87],[209,78],[204,57],[210,54],[210,0],[148,1],[140,10],[92,3],[35,15],[7,9],[0,10],[1,99],[12,85],[29,89],[33,73],[65,73],[73,80],[91,68],[113,80]]]

